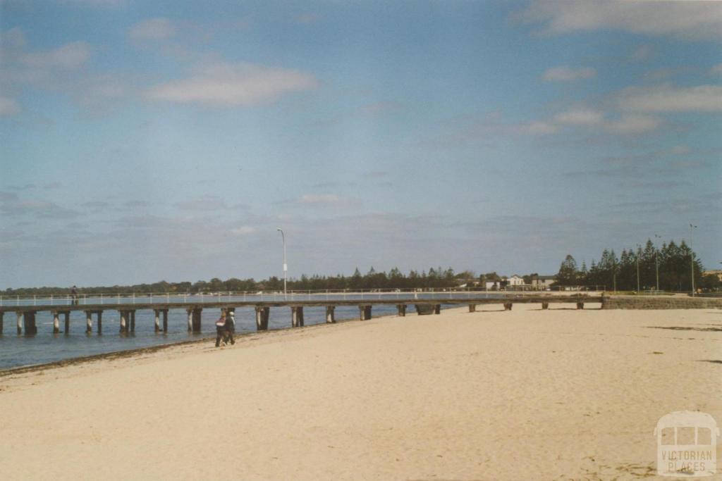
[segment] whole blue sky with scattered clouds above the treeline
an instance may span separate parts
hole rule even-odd
[[[0,289],[281,277],[278,228],[290,277],[722,268],[721,44],[722,2],[0,0]]]

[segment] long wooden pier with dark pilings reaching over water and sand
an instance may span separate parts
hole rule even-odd
[[[484,304],[501,304],[505,310],[511,310],[513,304],[540,304],[542,309],[547,309],[550,303],[554,304],[576,304],[577,309],[583,309],[585,303],[599,303],[604,309],[604,304],[609,298],[604,296],[505,296],[494,299],[469,298],[465,296],[449,297],[445,299],[417,299],[414,296],[399,299],[367,299],[367,300],[294,300],[294,301],[209,301],[202,304],[188,302],[152,302],[136,304],[70,304],[70,305],[19,305],[0,306],[0,335],[3,332],[5,314],[15,314],[17,320],[18,335],[35,335],[38,327],[35,325],[35,316],[38,312],[50,312],[53,316],[53,333],[58,334],[60,330],[60,318],[64,317],[64,333],[70,332],[70,313],[84,312],[84,330],[88,334],[93,330],[93,317],[96,321],[97,334],[103,333],[103,312],[116,311],[120,315],[120,332],[135,332],[135,314],[138,310],[152,310],[155,313],[155,332],[168,332],[168,311],[171,309],[183,309],[188,314],[188,332],[201,332],[201,312],[203,309],[221,309],[226,312],[235,311],[242,307],[251,307],[256,312],[256,329],[258,331],[268,330],[271,308],[290,309],[291,327],[303,327],[303,309],[305,307],[325,307],[326,322],[336,322],[335,309],[338,306],[357,306],[359,319],[364,321],[371,319],[373,306],[385,305],[396,306],[399,317],[406,316],[408,306],[414,306],[417,314],[439,314],[441,305],[468,305],[469,312],[476,312],[477,306]],[[162,322],[161,322],[162,319]]]

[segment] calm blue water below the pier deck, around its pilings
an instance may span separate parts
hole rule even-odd
[[[443,306],[445,307],[445,306]],[[120,350],[145,348],[153,345],[179,343],[186,340],[215,338],[214,322],[219,316],[219,309],[204,309],[202,312],[201,332],[188,332],[188,315],[184,309],[173,309],[168,312],[168,332],[155,332],[155,315],[152,310],[136,311],[136,330],[126,335],[120,330],[120,317],[117,311],[103,313],[103,335],[97,335],[97,319],[93,316],[93,332],[85,334],[85,315],[83,312],[72,312],[70,315],[70,333],[53,335],[53,317],[50,312],[38,312],[36,325],[38,334],[25,337],[18,336],[15,328],[15,316],[5,315],[4,332],[0,335],[0,369],[15,366],[61,361],[63,359],[93,354],[112,353]],[[324,307],[305,307],[303,309],[305,325],[326,322]],[[395,306],[373,306],[373,317],[396,314]],[[336,319],[357,319],[357,306],[336,307]],[[407,315],[416,315],[413,306],[409,306]],[[61,330],[64,330],[64,317],[61,316]],[[161,319],[162,323],[162,319]],[[236,332],[256,331],[256,312],[252,307],[235,310]],[[269,329],[290,327],[291,309],[289,307],[271,307]],[[214,340],[209,340],[209,343]]]

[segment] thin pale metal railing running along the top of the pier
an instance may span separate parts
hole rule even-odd
[[[48,294],[33,296],[0,295],[0,306],[69,306],[69,305],[103,305],[103,304],[206,304],[217,302],[275,302],[275,301],[371,301],[414,299],[489,299],[505,295],[539,295],[541,291],[479,291],[470,289],[323,289],[303,291],[219,291],[219,292],[162,292],[162,293],[101,293],[101,294]]]

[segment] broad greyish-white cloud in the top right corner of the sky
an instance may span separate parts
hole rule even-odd
[[[722,3],[716,1],[536,0],[514,17],[541,24],[551,34],[613,29],[688,38],[722,36]]]

